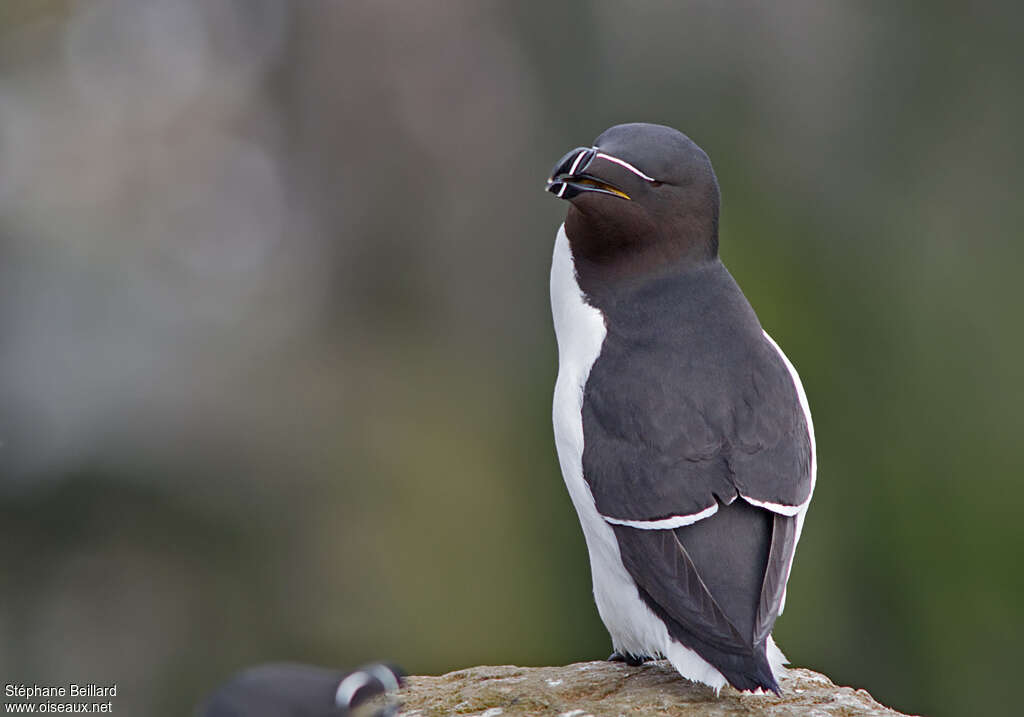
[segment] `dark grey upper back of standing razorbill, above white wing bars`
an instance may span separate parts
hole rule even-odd
[[[738,495],[800,506],[811,445],[793,377],[725,267],[607,307],[583,404],[584,476],[617,520]]]

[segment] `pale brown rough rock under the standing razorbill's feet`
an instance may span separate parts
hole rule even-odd
[[[788,670],[782,697],[715,690],[682,679],[668,662],[629,667],[592,662],[565,667],[473,667],[439,677],[410,677],[398,693],[400,717],[617,717],[618,715],[885,715],[863,689],[838,687],[811,670]]]

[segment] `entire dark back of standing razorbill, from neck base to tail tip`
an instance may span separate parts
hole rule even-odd
[[[765,645],[811,492],[794,378],[721,264],[603,308],[583,409],[597,509],[670,634],[734,686],[777,690]]]

